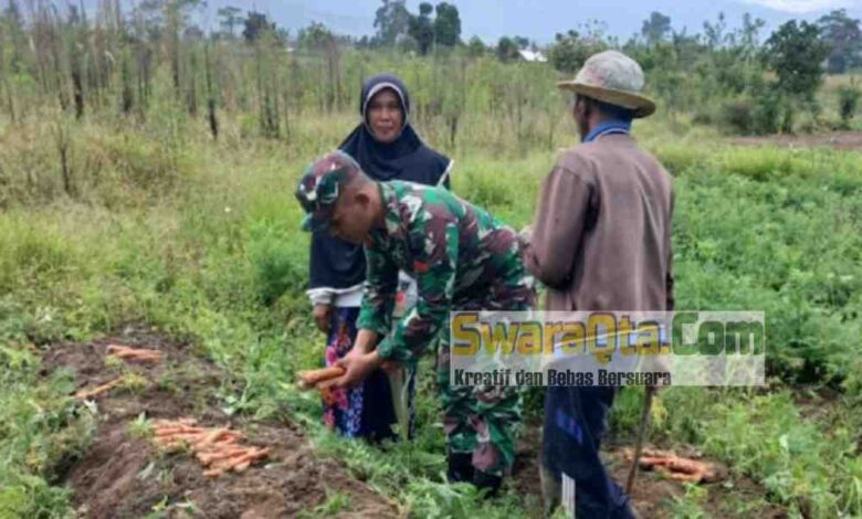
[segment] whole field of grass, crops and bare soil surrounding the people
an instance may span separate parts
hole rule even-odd
[[[63,41],[56,70],[50,52],[21,51],[12,72],[10,49],[23,47],[0,47],[0,518],[539,515],[538,392],[515,475],[492,500],[445,483],[430,358],[413,442],[370,446],[322,425],[318,396],[295,386],[320,366],[324,337],[292,192],[356,125],[360,78],[391,70],[413,88],[417,131],[454,158],[454,192],[519,229],[557,151],[577,141],[559,74],[493,55],[183,40],[179,83],[164,41],[144,82],[137,40],[86,34],[118,52],[80,115]],[[660,107],[634,126],[675,178],[676,306],[764,310],[768,384],[661,391],[650,447],[726,475],[697,485],[644,472],[635,507],[860,517],[862,145],[740,141],[694,112]],[[611,414],[618,478],[641,402],[623,390]]]

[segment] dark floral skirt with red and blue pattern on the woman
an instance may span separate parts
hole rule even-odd
[[[326,345],[326,366],[335,366],[356,340],[358,307],[335,307]],[[397,423],[389,379],[382,370],[371,373],[354,389],[332,389],[324,400],[324,423],[347,437],[372,442],[395,438]]]

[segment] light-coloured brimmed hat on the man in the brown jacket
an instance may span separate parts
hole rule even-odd
[[[628,108],[634,112],[634,117],[646,117],[655,112],[655,103],[641,94],[643,70],[621,52],[605,51],[591,55],[574,81],[559,82],[557,86]]]

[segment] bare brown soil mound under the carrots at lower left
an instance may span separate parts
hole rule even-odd
[[[159,350],[158,363],[111,362],[109,343]],[[81,517],[281,518],[314,510],[336,517],[399,517],[398,508],[336,463],[316,456],[297,426],[231,417],[213,392],[219,370],[191,347],[159,333],[129,328],[123,336],[94,343],[61,343],[43,356],[45,372],[71,369],[78,389],[94,388],[130,374],[135,383],[95,400],[99,424],[88,452],[74,460],[65,483],[75,490]],[[241,474],[206,477],[187,452],[159,451],[130,424],[138,416],[195,417],[201,425],[242,431],[244,443],[269,447],[266,460]],[[335,505],[333,505],[335,504]]]

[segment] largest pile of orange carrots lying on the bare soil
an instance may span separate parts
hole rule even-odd
[[[156,420],[155,442],[165,448],[188,446],[201,465],[203,475],[218,477],[227,472],[242,473],[255,462],[265,459],[269,448],[243,447],[236,442],[242,433],[224,427],[202,427],[195,419]]]

